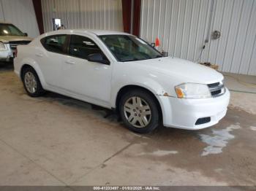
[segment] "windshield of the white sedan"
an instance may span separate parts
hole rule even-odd
[[[142,39],[132,35],[102,35],[102,42],[121,62],[141,61],[162,57],[161,53]]]

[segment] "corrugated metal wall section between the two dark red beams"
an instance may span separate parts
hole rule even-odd
[[[45,31],[52,19],[60,18],[66,28],[123,31],[121,0],[42,0]]]

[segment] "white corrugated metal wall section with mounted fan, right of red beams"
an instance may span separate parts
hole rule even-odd
[[[210,40],[200,58],[208,26],[221,37]],[[148,42],[158,36],[159,50],[169,55],[217,63],[221,71],[256,75],[255,0],[142,0],[140,36]]]

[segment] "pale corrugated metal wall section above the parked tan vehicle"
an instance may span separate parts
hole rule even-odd
[[[0,20],[14,24],[31,37],[39,35],[32,0],[0,0]]]

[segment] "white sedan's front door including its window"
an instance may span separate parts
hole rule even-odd
[[[111,65],[87,61],[87,56],[102,53],[86,36],[71,35],[68,54],[62,68],[61,87],[85,101],[109,106]],[[106,58],[107,59],[107,58]]]

